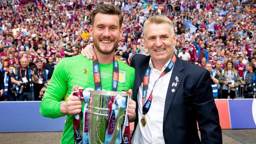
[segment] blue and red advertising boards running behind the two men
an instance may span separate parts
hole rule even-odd
[[[256,99],[216,99],[222,129],[255,129]],[[63,131],[66,116],[43,117],[40,101],[0,102],[0,133]],[[134,125],[131,123],[131,130]]]

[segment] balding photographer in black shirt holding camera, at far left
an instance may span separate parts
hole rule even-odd
[[[17,93],[18,97],[17,101],[33,101],[34,97],[34,88],[33,88],[33,80],[38,81],[38,78],[35,76],[35,72],[28,67],[28,59],[26,57],[22,57],[20,59],[21,67],[13,69],[11,82],[18,85]],[[33,78],[33,79],[32,79]]]

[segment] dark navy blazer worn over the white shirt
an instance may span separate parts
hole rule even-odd
[[[209,71],[179,59],[177,55],[176,58],[164,105],[165,144],[221,144],[222,132],[210,85]],[[134,131],[139,121],[138,105],[141,105],[138,103],[137,93],[149,66],[149,60],[150,56],[137,54],[131,61],[131,66],[135,68],[133,100],[136,102],[137,119]],[[179,78],[177,86],[172,85],[176,82],[176,76]],[[175,89],[175,92],[172,92],[172,89]],[[197,122],[201,132],[201,142]]]

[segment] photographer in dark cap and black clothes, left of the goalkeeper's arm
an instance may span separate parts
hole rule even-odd
[[[35,76],[37,77],[37,81],[34,81],[34,94],[35,94],[35,101],[41,101],[42,98],[39,98],[39,93],[42,87],[47,87],[47,79],[49,70],[43,68],[43,61],[37,60],[36,61],[36,68]]]

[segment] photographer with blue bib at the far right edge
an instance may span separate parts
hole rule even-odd
[[[241,80],[241,83],[244,85],[244,98],[254,98],[254,92],[256,91],[254,67],[252,62],[246,64],[247,71],[244,72]]]

